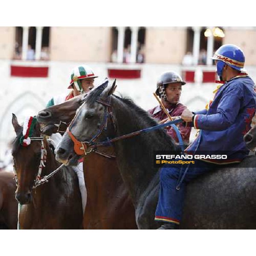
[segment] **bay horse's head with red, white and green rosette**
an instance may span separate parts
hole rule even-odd
[[[15,129],[16,138],[12,145],[13,164],[17,190],[15,197],[20,204],[29,204],[32,201],[32,189],[38,176],[42,157],[42,140],[33,140],[41,137],[40,125],[33,119],[33,125],[29,119],[25,125],[31,129],[29,137],[25,140],[23,126],[19,125],[17,117],[12,114],[12,125]],[[26,135],[25,135],[26,136]],[[30,140],[31,137],[31,141]],[[32,138],[33,137],[33,138]]]

